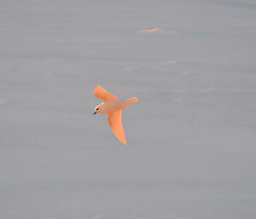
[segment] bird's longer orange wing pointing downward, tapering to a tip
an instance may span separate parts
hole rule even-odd
[[[108,113],[107,119],[108,124],[113,131],[113,134],[117,137],[119,141],[126,145],[125,131],[122,124],[122,111],[118,110]]]

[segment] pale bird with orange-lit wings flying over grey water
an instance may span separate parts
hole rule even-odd
[[[137,102],[137,97],[120,101],[117,96],[109,93],[100,85],[97,85],[94,89],[94,95],[102,99],[103,102],[95,107],[93,114],[108,113],[107,119],[109,127],[117,139],[126,145],[125,131],[122,124],[122,109],[130,106],[131,103]]]

